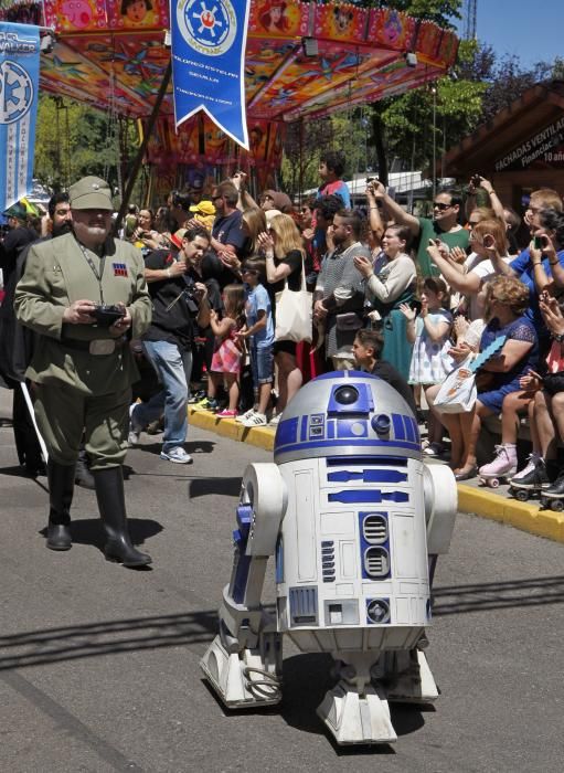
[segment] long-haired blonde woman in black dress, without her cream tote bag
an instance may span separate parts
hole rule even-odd
[[[288,214],[275,215],[270,220],[268,231],[258,234],[257,241],[266,255],[269,293],[276,297],[276,293],[284,289],[286,282],[290,290],[300,290],[305,250],[294,219]],[[276,324],[276,301],[273,304],[273,316]],[[294,341],[275,341],[274,345],[274,358],[278,369],[278,402],[272,424],[278,423],[281,412],[302,383],[301,370],[296,360],[296,346]]]

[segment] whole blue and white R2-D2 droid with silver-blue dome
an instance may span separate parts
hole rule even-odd
[[[276,464],[247,467],[220,633],[202,658],[228,708],[281,698],[281,637],[330,653],[337,685],[318,714],[338,743],[390,743],[389,701],[438,690],[422,646],[429,564],[448,551],[456,481],[424,465],[417,422],[385,381],[321,375],[286,407]],[[276,616],[260,596],[276,560]]]

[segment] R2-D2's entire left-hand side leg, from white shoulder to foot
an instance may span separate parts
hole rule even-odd
[[[254,708],[281,699],[281,636],[260,595],[286,502],[276,465],[247,467],[237,507],[233,572],[219,613],[220,633],[200,661],[227,708]]]

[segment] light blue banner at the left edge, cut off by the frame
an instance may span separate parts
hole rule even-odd
[[[33,188],[39,27],[0,22],[0,212]]]

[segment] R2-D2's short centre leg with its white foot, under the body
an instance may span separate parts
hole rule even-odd
[[[317,709],[339,744],[392,743],[397,740],[385,691],[371,684],[377,653],[338,653],[339,682]]]

